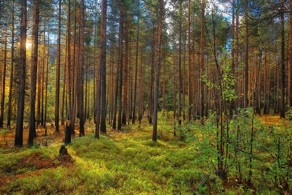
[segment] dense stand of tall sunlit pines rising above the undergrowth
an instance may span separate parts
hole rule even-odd
[[[56,132],[69,126],[70,143],[91,118],[99,138],[146,116],[154,141],[162,110],[178,125],[247,107],[284,118],[291,9],[287,0],[0,1],[0,127],[15,127],[22,146],[25,121],[33,145],[48,119]]]

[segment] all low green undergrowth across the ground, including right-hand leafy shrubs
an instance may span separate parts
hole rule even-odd
[[[292,190],[290,121],[278,119],[276,123],[272,116],[255,117],[251,153],[252,116],[248,110],[241,112],[229,121],[229,140],[224,141],[228,144],[220,156],[215,117],[210,116],[204,125],[201,121],[176,125],[175,137],[174,121],[164,113],[159,118],[157,142],[151,140],[152,126],[147,126],[146,120],[139,128],[125,126],[121,132],[109,129],[100,139],[94,138],[90,131],[93,125],[88,124],[89,135],[73,138],[67,146],[74,159],[71,162],[58,161],[62,143],[57,138],[49,146],[42,146],[41,139],[40,145],[29,148],[3,146],[0,192],[264,195]],[[218,174],[219,162],[223,162],[226,177]]]

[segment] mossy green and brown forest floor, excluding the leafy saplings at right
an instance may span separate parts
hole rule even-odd
[[[266,126],[287,122],[278,115],[257,118]],[[87,122],[85,137],[78,137],[76,126],[67,146],[73,159],[66,162],[57,160],[64,126],[55,133],[48,123],[47,136],[39,127],[30,148],[13,147],[15,130],[9,130],[0,140],[0,194],[243,195],[257,191],[256,186],[238,184],[236,178],[216,178],[210,164],[197,162],[204,158],[198,147],[173,136],[173,124],[173,118],[161,124],[169,131],[159,131],[160,139],[153,142],[146,118],[141,126],[124,126],[121,132],[108,129],[100,139],[94,138],[94,124]],[[24,146],[27,136],[25,129]],[[270,192],[280,194],[277,189]]]

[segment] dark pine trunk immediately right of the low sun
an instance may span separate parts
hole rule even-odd
[[[33,26],[33,50],[31,55],[31,80],[30,80],[30,119],[28,146],[32,146],[36,132],[36,91],[37,91],[37,52],[38,52],[38,22],[39,22],[39,4],[38,0],[34,1],[34,26]],[[38,93],[40,88],[38,89]],[[40,95],[40,93],[39,93]]]

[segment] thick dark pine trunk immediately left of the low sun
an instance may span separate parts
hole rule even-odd
[[[16,133],[14,146],[23,146],[23,111],[25,93],[25,66],[26,66],[26,7],[27,0],[21,1],[20,24],[20,63],[19,63],[19,91],[18,91],[18,115],[16,119]]]

